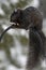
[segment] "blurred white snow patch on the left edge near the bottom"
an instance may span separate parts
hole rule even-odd
[[[0,51],[0,68],[6,67],[9,61],[6,60],[5,52],[3,50]]]

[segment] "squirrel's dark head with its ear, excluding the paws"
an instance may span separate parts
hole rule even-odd
[[[20,17],[21,10],[17,9],[15,10],[11,15],[11,23],[18,23],[18,18]]]

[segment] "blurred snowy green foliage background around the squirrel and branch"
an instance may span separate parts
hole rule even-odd
[[[10,16],[17,9],[35,6],[43,14],[43,32],[46,36],[46,0],[0,0],[0,34],[11,25]],[[28,54],[29,31],[9,30],[0,43],[0,70],[25,70]],[[46,70],[46,61],[36,70]]]

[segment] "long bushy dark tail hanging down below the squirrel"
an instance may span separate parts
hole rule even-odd
[[[27,61],[27,70],[31,70],[37,66],[40,61],[40,53],[43,46],[43,41],[40,33],[30,28],[29,31],[29,54]]]

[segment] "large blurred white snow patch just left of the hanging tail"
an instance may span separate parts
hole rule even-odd
[[[16,59],[17,62],[21,66],[25,67],[26,61],[27,61],[27,56],[21,54],[21,45],[20,43],[16,40],[16,46],[14,48],[11,48],[11,56]]]

